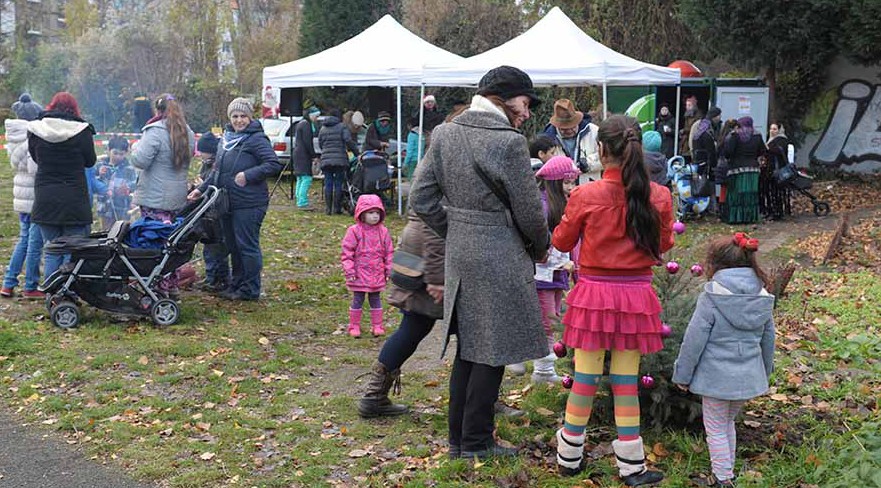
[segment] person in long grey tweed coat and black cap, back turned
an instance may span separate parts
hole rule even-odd
[[[471,107],[432,133],[410,205],[446,238],[444,319],[457,336],[450,376],[450,455],[514,455],[496,445],[493,407],[507,364],[547,355],[535,261],[547,221],[517,130],[538,98],[523,71],[480,80]],[[446,349],[446,348],[445,348]]]

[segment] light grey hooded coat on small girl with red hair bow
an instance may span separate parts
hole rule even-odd
[[[774,296],[752,268],[716,272],[698,297],[673,382],[720,400],[765,393],[774,370],[773,311]]]

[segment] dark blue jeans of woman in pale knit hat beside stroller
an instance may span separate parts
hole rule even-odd
[[[221,220],[224,243],[232,258],[230,290],[247,299],[260,298],[260,227],[267,207],[232,209]]]

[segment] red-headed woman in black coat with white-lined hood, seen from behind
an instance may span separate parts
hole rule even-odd
[[[28,150],[37,163],[31,219],[40,226],[43,242],[89,234],[92,204],[86,168],[98,159],[94,135],[94,127],[82,119],[68,92],[56,93],[40,118],[28,123]],[[69,259],[46,255],[44,276]]]

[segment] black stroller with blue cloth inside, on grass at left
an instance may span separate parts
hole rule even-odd
[[[211,226],[216,222],[206,216],[217,197],[217,188],[211,186],[185,208],[185,217],[159,249],[125,245],[131,224],[123,220],[106,232],[60,237],[47,244],[47,254],[71,255],[71,261],[40,287],[52,323],[62,329],[79,325],[80,300],[109,312],[149,316],[156,325],[177,322],[180,306],[158,285],[192,258],[197,242],[219,236]]]

